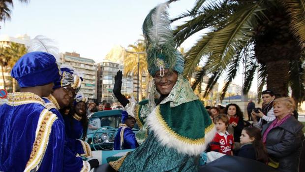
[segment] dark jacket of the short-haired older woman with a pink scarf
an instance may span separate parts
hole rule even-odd
[[[272,122],[263,125],[262,136]],[[268,155],[279,162],[279,172],[297,172],[304,134],[303,124],[293,116],[270,130],[266,139]]]

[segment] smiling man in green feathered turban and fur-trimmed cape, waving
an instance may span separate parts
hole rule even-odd
[[[184,59],[175,49],[167,5],[153,8],[143,24],[148,70],[153,80],[149,100],[140,102],[135,109],[141,127],[136,137],[141,145],[109,163],[120,172],[197,172],[200,153],[215,135],[206,109],[181,75]],[[122,73],[119,71],[118,75],[114,93],[120,101],[124,97],[117,89],[117,80]],[[125,108],[134,106],[123,102],[124,106],[128,103]]]

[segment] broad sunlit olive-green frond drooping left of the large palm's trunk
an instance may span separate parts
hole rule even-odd
[[[225,69],[255,34],[253,28],[258,25],[257,19],[263,10],[260,2],[245,5],[234,13],[225,28],[213,33],[213,39],[210,41],[213,54],[209,59],[212,63],[207,66],[212,72],[219,68]]]

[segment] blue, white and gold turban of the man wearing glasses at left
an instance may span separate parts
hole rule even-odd
[[[54,82],[53,89],[70,85],[76,92],[79,91],[83,78],[75,74],[73,69],[61,68],[61,77]]]

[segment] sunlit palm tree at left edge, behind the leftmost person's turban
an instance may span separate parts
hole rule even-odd
[[[6,83],[5,83],[5,77],[4,72],[9,73],[12,67],[15,65],[15,63],[19,60],[21,56],[27,53],[27,49],[25,45],[18,44],[15,42],[10,42],[8,47],[0,47],[0,66],[1,66],[1,73],[2,73],[2,79],[3,79],[3,87],[6,89]],[[13,92],[15,81],[13,79]]]

